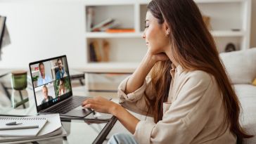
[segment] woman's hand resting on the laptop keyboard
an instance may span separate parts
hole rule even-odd
[[[106,98],[102,98],[101,96],[97,96],[84,100],[82,107],[94,109],[96,112],[113,114],[120,105]]]

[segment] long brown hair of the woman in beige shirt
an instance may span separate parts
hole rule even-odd
[[[212,35],[203,22],[198,6],[193,0],[153,0],[148,11],[162,25],[167,23],[170,29],[169,41],[172,45],[174,60],[184,70],[202,70],[215,77],[224,102],[224,122],[226,129],[236,134],[238,141],[252,136],[245,133],[239,124],[240,103],[231,87]],[[154,120],[162,119],[162,102],[168,97],[171,77],[169,70],[172,62],[158,62],[151,72],[152,83],[158,94],[149,100],[154,111]],[[163,76],[163,77],[162,77]]]

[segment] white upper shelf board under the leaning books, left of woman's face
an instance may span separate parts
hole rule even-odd
[[[107,33],[107,32],[87,32],[86,38],[134,38],[142,37],[142,33],[138,32],[122,32],[122,33]]]

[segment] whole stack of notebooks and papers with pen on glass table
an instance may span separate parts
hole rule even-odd
[[[59,114],[0,117],[0,143],[27,143],[67,136]]]

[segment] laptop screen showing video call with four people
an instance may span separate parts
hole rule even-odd
[[[65,55],[30,63],[37,112],[72,96]]]

